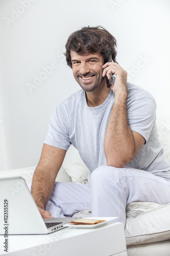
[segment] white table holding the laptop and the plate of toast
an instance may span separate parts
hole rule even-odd
[[[8,252],[0,236],[0,255],[127,256],[123,223],[98,228],[67,227],[51,234],[8,236]]]

